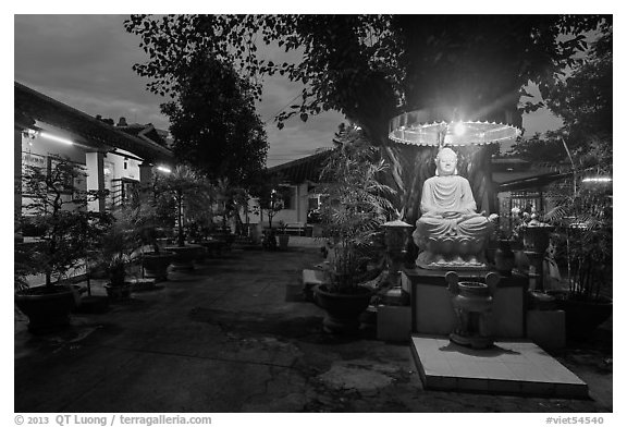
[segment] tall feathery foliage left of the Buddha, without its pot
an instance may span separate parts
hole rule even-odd
[[[321,223],[331,246],[329,273],[334,292],[349,293],[372,279],[369,263],[383,259],[381,225],[393,212],[385,197],[392,190],[378,181],[385,168],[360,131],[351,129],[342,134],[321,171],[321,193],[327,195]]]

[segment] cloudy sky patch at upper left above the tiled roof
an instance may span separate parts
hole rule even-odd
[[[15,80],[90,115],[167,129],[164,98],[132,69],[147,58],[124,15],[16,15]]]

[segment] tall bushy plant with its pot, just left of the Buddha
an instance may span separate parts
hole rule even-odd
[[[377,175],[385,169],[377,151],[358,130],[343,134],[321,171],[323,235],[329,241],[325,281],[314,289],[316,302],[327,310],[323,328],[333,333],[356,333],[359,315],[368,308],[372,288],[362,284],[383,269],[381,225],[392,212],[385,198],[391,188]]]

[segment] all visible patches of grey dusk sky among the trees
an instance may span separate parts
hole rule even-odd
[[[139,38],[125,32],[127,15],[15,15],[14,80],[90,115],[118,122],[152,123],[168,130],[159,105],[165,98],[146,90],[147,80],[132,66],[145,62]],[[278,52],[274,52],[276,54]],[[279,164],[331,146],[337,112],[327,112],[303,123],[298,118],[278,130],[273,117],[299,94],[298,85],[281,76],[266,77],[258,106],[267,123],[268,166]],[[546,112],[524,120],[527,135],[558,126]]]

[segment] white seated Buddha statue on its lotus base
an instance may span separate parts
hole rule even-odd
[[[435,176],[425,181],[414,241],[416,265],[428,269],[485,269],[484,249],[493,224],[482,213],[468,180],[457,175],[457,155],[442,148]]]

